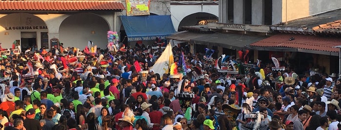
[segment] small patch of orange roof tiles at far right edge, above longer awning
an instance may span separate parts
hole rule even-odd
[[[341,34],[341,20],[321,24],[313,28],[317,33]]]

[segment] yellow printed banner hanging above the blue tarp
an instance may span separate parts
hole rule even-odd
[[[150,0],[125,0],[127,16],[144,16],[149,14]]]

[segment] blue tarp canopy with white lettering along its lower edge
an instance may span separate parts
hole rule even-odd
[[[120,16],[128,41],[165,39],[175,33],[171,16]]]

